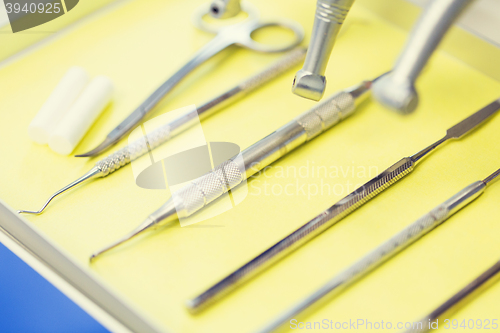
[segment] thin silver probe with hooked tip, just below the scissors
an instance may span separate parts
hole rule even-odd
[[[200,120],[206,119],[218,112],[222,108],[228,106],[229,104],[243,98],[253,90],[257,89],[263,84],[266,84],[276,78],[278,75],[283,74],[293,66],[299,64],[305,57],[306,49],[299,47],[281,57],[278,61],[271,64],[268,68],[262,72],[253,75],[247,80],[241,82],[236,87],[229,89],[225,93],[215,97],[214,99],[206,102],[202,106],[197,108],[197,113]],[[139,158],[140,156],[146,154],[148,150],[148,145],[150,149],[154,149],[163,143],[167,142],[174,136],[185,131],[193,124],[195,124],[196,115],[194,112],[189,112],[182,115],[171,122],[160,126],[147,137],[147,142],[145,138],[141,138],[133,143],[125,146],[124,148],[116,151],[115,153],[109,155],[108,157],[98,161],[95,166],[88,171],[85,175],[78,178],[71,184],[63,187],[56,193],[54,193],[42,208],[38,211],[20,210],[19,214],[41,214],[47,205],[59,194],[81,184],[87,180],[93,180],[96,178],[103,178],[109,174],[115,172],[121,167],[129,164],[131,161]]]

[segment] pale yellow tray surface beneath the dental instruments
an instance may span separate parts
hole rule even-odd
[[[116,84],[114,103],[75,150],[83,153],[212,38],[190,21],[194,9],[205,2],[130,1],[0,70],[0,198],[13,209],[38,208],[95,163],[56,155],[27,135],[31,119],[70,66],[107,75]],[[310,35],[313,1],[252,3],[263,19],[294,19]],[[328,65],[325,96],[387,71],[405,39],[405,31],[354,5]],[[194,72],[155,115],[200,105],[279,57],[231,47]],[[204,121],[207,141],[246,148],[315,105],[291,93],[297,69]],[[192,316],[185,310],[186,299],[333,205],[355,185],[440,139],[448,127],[498,98],[500,83],[437,52],[418,90],[421,101],[414,114],[400,116],[368,102],[352,118],[253,177],[247,198],[235,208],[187,227],[174,223],[93,264],[88,263],[92,252],[137,226],[170,193],[136,186],[127,166],[56,199],[41,216],[25,218],[166,329],[251,332],[500,167],[497,116],[434,152],[407,179],[207,311]],[[117,148],[124,144],[126,140]],[[326,176],[320,167],[327,168]],[[293,169],[302,173],[294,177]],[[272,194],[287,184],[292,184],[291,195]],[[500,184],[306,320],[419,319],[500,259],[499,198]],[[497,284],[453,318],[498,318],[499,298]]]

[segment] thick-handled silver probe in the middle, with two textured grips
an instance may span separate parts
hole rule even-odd
[[[243,180],[312,140],[354,113],[367,97],[373,81],[341,91],[302,113],[240,154],[174,192],[172,197],[132,232],[96,252],[90,260],[154,226],[187,217],[238,186]],[[239,158],[241,156],[241,158]]]

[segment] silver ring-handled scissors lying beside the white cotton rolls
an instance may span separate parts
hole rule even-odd
[[[288,20],[259,22],[257,11],[253,9],[253,7],[250,7],[247,4],[244,7],[244,10],[249,15],[246,20],[234,25],[222,27],[211,25],[203,20],[203,16],[205,13],[208,13],[208,9],[205,12],[197,10],[195,13],[195,25],[200,29],[216,33],[215,37],[208,44],[202,47],[191,60],[189,60],[174,75],[165,81],[155,92],[153,92],[151,96],[139,105],[139,107],[135,109],[135,111],[133,111],[127,118],[125,118],[125,120],[123,120],[117,127],[115,127],[115,129],[109,132],[106,139],[99,146],[85,154],[76,156],[95,156],[116,144],[121,138],[134,129],[142,119],[148,116],[154,110],[155,106],[158,105],[158,103],[160,103],[160,101],[189,73],[227,47],[231,45],[238,45],[257,52],[275,53],[290,50],[302,42],[302,39],[304,38],[304,31],[300,24]],[[291,30],[294,33],[293,41],[285,43],[285,45],[267,45],[252,39],[252,34],[255,31],[270,26],[278,26]]]

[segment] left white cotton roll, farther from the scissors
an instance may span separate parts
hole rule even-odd
[[[71,67],[59,81],[28,127],[28,135],[36,143],[46,144],[71,104],[83,91],[90,78],[85,69]]]

